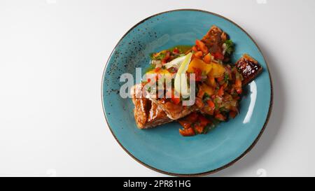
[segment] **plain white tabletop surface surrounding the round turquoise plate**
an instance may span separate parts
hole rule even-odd
[[[165,176],[134,161],[102,111],[106,60],[134,24],[165,10],[224,15],[272,73],[269,125],[213,176],[315,176],[315,1],[0,0],[0,176]]]

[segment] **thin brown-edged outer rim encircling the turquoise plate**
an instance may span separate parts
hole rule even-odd
[[[269,110],[268,110],[268,113],[267,113],[267,118],[265,120],[265,123],[262,127],[262,129],[260,130],[258,136],[255,138],[255,140],[253,141],[253,143],[251,143],[251,146],[249,146],[245,151],[244,153],[241,153],[241,155],[239,155],[235,160],[232,160],[231,162],[228,162],[228,164],[225,164],[223,165],[222,167],[218,167],[216,169],[213,169],[211,171],[204,171],[204,172],[201,172],[201,173],[195,173],[195,174],[176,174],[176,173],[172,173],[172,172],[168,172],[168,171],[162,171],[160,169],[157,169],[155,167],[151,167],[149,164],[146,164],[145,162],[142,162],[141,160],[139,160],[137,157],[134,157],[134,155],[132,155],[132,153],[129,152],[129,150],[127,150],[121,143],[120,141],[117,139],[116,135],[113,133],[110,125],[109,125],[109,122],[107,120],[107,117],[106,117],[106,113],[105,113],[105,107],[104,107],[104,101],[103,101],[103,97],[104,97],[104,78],[105,78],[105,73],[106,73],[106,68],[107,68],[107,65],[109,64],[109,60],[111,59],[112,55],[113,55],[113,52],[116,50],[118,44],[123,40],[123,38],[125,38],[125,36],[127,36],[127,34],[130,33],[130,31],[132,31],[132,29],[134,29],[135,27],[137,27],[139,24],[145,22],[146,20],[150,19],[151,17],[155,17],[155,16],[158,16],[158,15],[162,15],[164,13],[170,13],[170,12],[176,12],[176,11],[183,11],[183,10],[190,10],[190,11],[196,11],[196,12],[202,12],[202,13],[207,13],[207,14],[211,14],[211,15],[215,15],[217,17],[221,17],[223,18],[224,20],[228,20],[229,22],[231,22],[232,24],[235,24],[236,27],[238,27],[239,29],[241,29],[241,31],[243,31],[246,36],[248,36],[251,41],[253,41],[253,43],[256,45],[256,47],[258,48],[259,52],[261,53],[262,55],[262,58],[264,59],[265,63],[266,63],[266,66],[267,66],[267,72],[269,73],[269,81],[270,81],[270,102],[269,102]],[[269,66],[267,64],[267,61],[265,59],[265,56],[262,54],[262,51],[260,49],[260,47],[258,46],[258,44],[254,41],[254,39],[242,28],[240,27],[237,23],[235,23],[234,21],[228,19],[227,17],[224,17],[222,15],[219,15],[217,13],[213,13],[211,11],[208,11],[208,10],[201,10],[201,9],[195,9],[195,8],[180,8],[180,9],[172,9],[172,10],[167,10],[167,11],[163,11],[163,12],[160,12],[160,13],[155,13],[154,15],[151,15],[149,17],[146,17],[144,20],[141,20],[140,22],[138,22],[137,24],[134,24],[133,27],[131,27],[121,38],[120,40],[118,41],[118,43],[116,43],[115,47],[113,48],[113,50],[111,51],[111,55],[109,55],[109,59],[107,59],[107,62],[104,66],[104,71],[103,71],[103,74],[102,74],[102,83],[101,83],[101,100],[102,100],[102,109],[103,109],[103,113],[104,113],[104,117],[105,117],[105,120],[106,120],[106,124],[107,126],[109,127],[109,130],[111,131],[111,134],[113,135],[113,137],[115,138],[115,140],[117,141],[117,143],[120,145],[121,148],[123,148],[123,150],[125,150],[125,152],[130,155],[130,157],[132,157],[134,160],[136,160],[137,162],[139,162],[140,164],[144,165],[144,167],[147,167],[148,169],[151,169],[153,171],[157,171],[161,174],[166,174],[166,175],[169,175],[169,176],[182,176],[182,177],[192,177],[192,176],[207,176],[209,174],[215,174],[216,172],[218,171],[221,171],[223,169],[226,169],[230,166],[232,166],[233,164],[235,164],[236,162],[238,162],[239,160],[241,160],[246,154],[248,154],[252,149],[253,147],[256,145],[256,143],[258,143],[260,137],[262,136],[262,133],[265,132],[265,129],[267,127],[267,124],[269,122],[269,118],[270,118],[270,115],[272,113],[272,106],[273,106],[273,85],[272,85],[272,76],[271,76],[271,73],[269,71]]]

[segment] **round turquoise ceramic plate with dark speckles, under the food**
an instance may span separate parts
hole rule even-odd
[[[248,53],[263,68],[260,76],[244,88],[240,114],[234,120],[222,122],[208,134],[193,137],[181,136],[177,122],[138,129],[132,100],[119,95],[123,85],[119,82],[120,75],[134,75],[136,67],[146,69],[151,52],[174,45],[193,45],[213,24],[235,42],[232,62]],[[253,148],[267,125],[272,106],[272,83],[258,46],[237,24],[203,10],[172,10],[139,22],[118,42],[104,71],[102,101],[113,136],[135,160],[165,174],[197,176],[229,167]]]

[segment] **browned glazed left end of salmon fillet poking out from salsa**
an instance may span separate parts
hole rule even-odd
[[[171,122],[166,113],[157,104],[142,94],[144,84],[132,87],[132,102],[134,103],[134,119],[139,129],[148,129]]]

